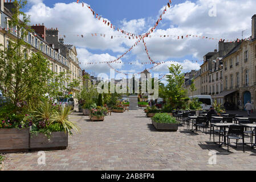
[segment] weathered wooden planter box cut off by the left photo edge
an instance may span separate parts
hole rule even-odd
[[[29,151],[29,128],[0,129],[0,153]]]

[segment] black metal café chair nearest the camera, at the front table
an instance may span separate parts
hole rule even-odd
[[[242,139],[243,142],[243,153],[245,152],[245,135],[243,133],[244,127],[241,125],[230,125],[229,131],[227,132],[227,152],[229,152],[230,139],[235,139],[235,148],[237,148],[237,142]]]

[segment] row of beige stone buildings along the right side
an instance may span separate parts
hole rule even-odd
[[[219,104],[245,105],[256,101],[256,15],[251,20],[251,37],[231,43],[219,42],[219,51],[204,56],[194,82],[201,94],[209,94]],[[196,92],[198,94],[198,91]],[[194,94],[194,95],[196,95]]]

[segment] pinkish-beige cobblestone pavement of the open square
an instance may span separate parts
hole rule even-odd
[[[112,113],[104,122],[90,122],[80,113],[71,121],[81,134],[69,137],[66,150],[46,151],[46,165],[38,153],[6,154],[5,170],[255,170],[256,150],[246,146],[218,148],[209,134],[179,127],[177,132],[155,130],[143,110]],[[217,137],[216,137],[217,140]],[[216,151],[216,165],[208,164]]]

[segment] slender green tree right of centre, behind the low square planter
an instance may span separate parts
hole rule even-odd
[[[167,75],[168,84],[166,85],[166,97],[173,109],[179,109],[183,103],[186,91],[183,88],[184,74],[181,73],[182,66],[171,64],[169,75]]]

